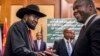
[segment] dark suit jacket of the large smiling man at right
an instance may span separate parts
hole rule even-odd
[[[100,56],[100,18],[93,22],[96,17],[80,32],[72,56]]]

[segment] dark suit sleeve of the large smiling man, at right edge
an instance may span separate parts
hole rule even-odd
[[[90,33],[92,55],[100,56],[100,20],[93,24]]]

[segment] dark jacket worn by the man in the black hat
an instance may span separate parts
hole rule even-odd
[[[3,56],[35,56],[29,39],[27,25],[24,21],[13,24],[7,35],[7,42]]]

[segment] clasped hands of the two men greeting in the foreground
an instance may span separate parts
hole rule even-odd
[[[55,54],[56,50],[53,50],[52,48],[49,48],[45,50],[44,52],[38,52],[37,56],[58,56]]]

